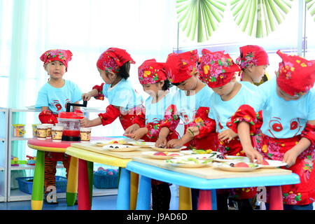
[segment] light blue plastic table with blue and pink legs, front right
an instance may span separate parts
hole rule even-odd
[[[140,210],[150,209],[151,179],[173,183],[186,188],[200,189],[198,209],[216,209],[216,189],[269,186],[269,194],[271,198],[270,209],[281,210],[283,209],[281,186],[300,183],[300,178],[297,174],[290,173],[285,169],[274,169],[274,173],[272,173],[270,169],[264,169],[265,171],[260,169],[257,174],[251,172],[251,177],[248,176],[248,172],[243,174],[239,172],[237,176],[247,175],[248,177],[236,178],[225,178],[230,172],[215,171],[214,173],[218,176],[211,177],[211,179],[205,179],[198,176],[198,170],[200,170],[201,174],[202,171],[204,172],[204,168],[190,169],[193,173],[193,175],[190,175],[181,173],[186,172],[189,168],[170,167],[161,160],[145,158],[133,158],[133,160],[134,161],[128,162],[126,169],[141,175],[137,197],[137,209]],[[211,172],[211,170],[214,171],[211,167],[206,169],[209,169],[209,172]]]

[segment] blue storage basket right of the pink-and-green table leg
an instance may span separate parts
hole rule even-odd
[[[95,188],[99,189],[118,188],[118,175],[106,175],[94,172],[93,184]]]

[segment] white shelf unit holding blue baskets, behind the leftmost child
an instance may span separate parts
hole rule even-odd
[[[82,109],[85,117],[89,117],[89,113],[102,113],[104,111],[99,110],[99,109]],[[31,195],[27,194],[27,193],[23,193],[22,191],[18,190],[18,189],[10,189],[10,181],[11,181],[11,172],[15,171],[15,170],[30,170],[30,169],[34,169],[35,166],[32,165],[19,165],[18,167],[11,167],[10,165],[10,156],[11,156],[11,152],[12,152],[12,143],[13,141],[25,141],[25,145],[27,145],[27,140],[32,139],[32,129],[31,129],[31,125],[27,124],[25,126],[26,128],[26,134],[25,137],[13,137],[13,116],[15,113],[40,113],[39,109],[8,109],[8,122],[7,122],[7,129],[6,129],[6,133],[8,133],[8,136],[6,138],[7,140],[7,159],[6,159],[6,167],[7,167],[7,179],[6,179],[6,198],[3,199],[3,201],[8,201],[8,202],[13,202],[13,201],[25,201],[25,200],[31,200]],[[1,123],[1,122],[0,122]],[[37,123],[40,123],[39,120]],[[1,140],[1,136],[0,136],[0,140]],[[27,147],[27,146],[26,146]],[[35,153],[34,153],[35,154]],[[63,165],[57,165],[57,168],[64,168]],[[1,170],[1,167],[0,167]],[[104,195],[117,195],[118,190],[117,189],[97,189],[93,187],[93,196],[104,196]],[[57,198],[65,198],[66,197],[66,193],[57,193]],[[1,198],[0,198],[1,200]]]

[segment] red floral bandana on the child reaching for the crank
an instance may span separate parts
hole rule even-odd
[[[120,67],[126,62],[132,64],[136,63],[126,50],[109,48],[99,56],[99,59],[97,60],[97,68],[107,72],[118,73]]]

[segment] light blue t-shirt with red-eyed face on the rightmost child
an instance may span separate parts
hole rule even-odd
[[[258,86],[259,97],[251,105],[262,110],[261,131],[269,137],[288,139],[301,134],[307,120],[315,120],[315,90],[300,99],[286,101],[276,93],[276,78]]]

